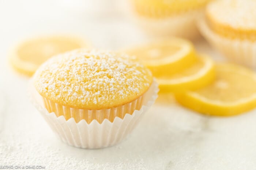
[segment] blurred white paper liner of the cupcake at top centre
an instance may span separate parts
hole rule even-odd
[[[155,36],[178,36],[196,39],[200,34],[196,21],[203,15],[203,9],[191,10],[167,18],[150,18],[135,14],[135,22]]]

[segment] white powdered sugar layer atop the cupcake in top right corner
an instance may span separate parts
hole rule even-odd
[[[214,20],[238,29],[256,29],[255,9],[255,0],[218,0],[207,6]]]

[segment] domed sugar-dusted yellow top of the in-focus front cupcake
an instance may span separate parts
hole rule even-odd
[[[54,56],[34,75],[34,86],[45,98],[89,110],[132,102],[152,81],[151,72],[127,55],[85,49]]]

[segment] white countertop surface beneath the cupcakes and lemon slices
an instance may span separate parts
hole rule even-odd
[[[94,47],[109,49],[146,38],[119,13],[92,17],[83,8],[70,12],[57,2],[0,0],[0,166],[256,169],[256,111],[228,118],[208,117],[179,106],[171,95],[159,96],[138,127],[119,145],[85,150],[59,141],[27,97],[29,78],[10,68],[8,49],[28,36],[56,32],[83,35]],[[204,40],[196,47],[220,59]]]

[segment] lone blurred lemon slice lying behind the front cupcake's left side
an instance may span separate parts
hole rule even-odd
[[[51,56],[81,47],[87,44],[77,37],[38,37],[18,44],[11,51],[10,63],[16,71],[31,76]]]

